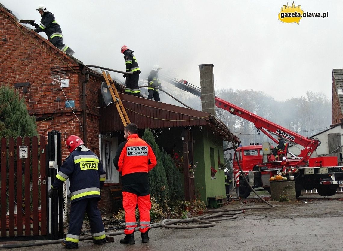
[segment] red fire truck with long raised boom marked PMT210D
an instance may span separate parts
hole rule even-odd
[[[189,84],[184,79],[178,80],[161,74],[159,74],[159,77],[182,90],[201,97],[200,88]],[[243,173],[252,188],[263,187],[269,192],[270,177],[279,172],[288,173],[288,176],[294,177],[297,197],[300,196],[303,189],[312,190],[314,188],[317,189],[318,194],[321,196],[332,196],[336,193],[338,187],[343,186],[343,169],[342,166],[338,166],[336,157],[310,158],[311,154],[320,145],[318,139],[297,134],[218,97],[215,97],[215,105],[233,115],[250,121],[259,132],[268,136],[276,145],[278,141],[275,138],[279,135],[288,142],[285,151],[280,152],[284,157],[278,161],[275,161],[271,154],[271,143],[269,142],[236,149],[233,167],[238,196],[246,198],[251,192]],[[297,144],[297,146],[302,146],[303,149],[300,154],[294,155],[288,151],[289,144]],[[238,163],[241,170],[238,168]]]

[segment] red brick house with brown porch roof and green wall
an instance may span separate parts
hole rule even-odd
[[[62,144],[69,135],[78,135],[88,148],[100,155],[107,180],[99,206],[113,211],[111,189],[121,186],[112,160],[122,141],[124,127],[115,105],[106,106],[102,101],[103,75],[20,24],[1,4],[0,39],[0,84],[13,86],[24,98],[29,114],[36,117],[40,135],[58,130]],[[188,175],[183,179],[185,198],[192,199],[196,183],[206,184],[208,176],[211,179],[209,167],[218,169],[218,161],[224,161],[222,141],[230,141],[227,127],[210,113],[128,96],[122,94],[125,89],[122,85],[115,84],[131,122],[141,131],[146,127],[156,130],[157,143],[171,154],[187,146],[186,168],[189,161],[199,161],[199,180],[189,179]],[[235,137],[235,141],[239,139]],[[62,149],[62,159],[68,153]],[[225,194],[222,173],[205,189],[204,201],[209,196]]]

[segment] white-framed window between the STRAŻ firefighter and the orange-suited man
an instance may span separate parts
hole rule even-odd
[[[116,137],[103,136],[100,140],[100,159],[106,172],[105,183],[119,183],[119,173],[113,165],[113,159],[118,148],[118,139]]]

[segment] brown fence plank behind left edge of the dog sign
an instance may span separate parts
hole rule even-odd
[[[17,137],[17,236],[23,236],[23,166],[19,158],[19,146],[22,144],[22,137]]]

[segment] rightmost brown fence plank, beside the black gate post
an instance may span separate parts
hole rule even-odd
[[[45,147],[46,147],[46,138],[45,136],[40,136],[39,144],[40,144],[40,177],[46,177],[46,153],[45,153]],[[40,235],[46,235],[46,187],[48,182],[44,185],[42,183],[44,179],[40,180],[40,212],[41,212],[41,222],[40,222]],[[47,179],[46,179],[47,180]]]

